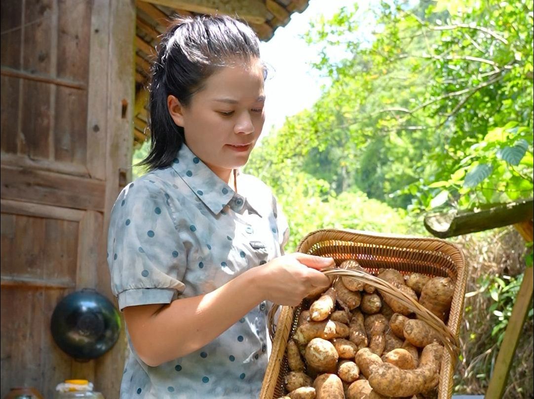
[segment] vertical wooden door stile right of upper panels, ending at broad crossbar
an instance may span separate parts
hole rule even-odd
[[[109,51],[109,3],[95,0],[91,10],[89,83],[87,92],[87,169],[91,177],[104,180],[107,133],[107,89]]]

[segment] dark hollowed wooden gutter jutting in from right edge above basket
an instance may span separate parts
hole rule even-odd
[[[534,200],[505,203],[488,209],[453,210],[425,216],[426,229],[439,238],[495,229],[532,219]]]

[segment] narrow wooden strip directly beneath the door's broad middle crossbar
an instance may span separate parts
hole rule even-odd
[[[85,212],[78,209],[60,208],[41,203],[0,200],[0,211],[3,214],[36,216],[48,219],[59,219],[80,222]]]

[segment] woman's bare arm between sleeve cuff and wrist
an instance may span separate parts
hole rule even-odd
[[[150,366],[185,356],[207,345],[264,298],[253,268],[224,286],[168,305],[124,309],[133,346]]]

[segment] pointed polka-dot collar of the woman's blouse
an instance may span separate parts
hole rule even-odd
[[[249,207],[257,213],[245,197],[240,196],[223,182],[187,145],[183,144],[178,151],[172,162],[172,168],[215,215],[225,206],[230,206],[236,212]]]

